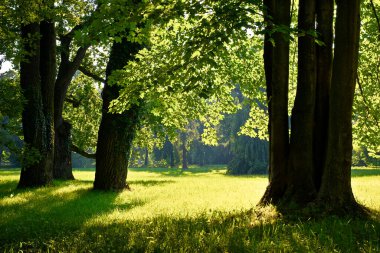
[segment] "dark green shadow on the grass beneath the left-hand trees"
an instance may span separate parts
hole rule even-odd
[[[118,203],[115,200],[120,193],[95,191],[87,182],[24,190],[15,189],[16,183],[0,184],[0,242],[4,244],[64,236],[115,209],[145,205],[140,199]]]

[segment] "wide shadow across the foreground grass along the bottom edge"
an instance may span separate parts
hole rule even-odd
[[[287,223],[252,213],[215,212],[83,227],[29,242],[63,252],[378,252],[379,220],[327,217]],[[24,250],[18,244],[8,245]]]

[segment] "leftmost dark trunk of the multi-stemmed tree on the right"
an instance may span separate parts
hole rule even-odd
[[[268,14],[273,17],[275,25],[290,26],[290,0],[264,1]],[[261,204],[277,203],[284,194],[287,178],[287,160],[289,147],[288,133],[288,79],[289,79],[289,39],[285,33],[273,34],[275,47],[267,45],[269,51],[264,64],[265,70],[271,71],[269,92],[271,92],[269,127],[270,127],[270,178],[269,185],[261,199]],[[270,49],[271,48],[271,49]],[[266,54],[266,52],[265,52]],[[268,59],[272,55],[272,60]],[[268,66],[269,65],[269,66]],[[270,65],[272,67],[270,68]],[[269,74],[266,74],[266,76]]]

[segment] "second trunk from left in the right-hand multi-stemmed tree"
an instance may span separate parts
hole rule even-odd
[[[315,0],[300,0],[298,28],[315,29]],[[312,36],[298,38],[297,94],[292,110],[288,201],[305,204],[316,196],[313,181],[314,105],[316,87],[316,52]]]

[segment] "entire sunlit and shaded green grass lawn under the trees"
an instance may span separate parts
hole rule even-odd
[[[353,169],[353,190],[380,212],[380,169]],[[0,169],[0,252],[380,252],[380,217],[289,220],[255,204],[266,176],[219,167],[131,169],[132,191],[93,191],[76,181],[16,190]],[[254,208],[254,209],[252,209]]]

